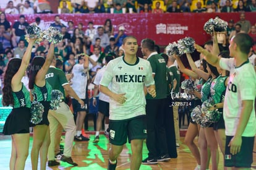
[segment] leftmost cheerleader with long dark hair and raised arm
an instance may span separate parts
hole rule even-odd
[[[2,103],[13,109],[4,124],[4,135],[12,136],[12,154],[10,169],[24,169],[29,148],[30,94],[21,82],[29,65],[33,44],[36,39],[30,38],[22,59],[11,59],[4,74]]]

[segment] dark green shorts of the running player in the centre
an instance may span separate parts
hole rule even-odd
[[[122,146],[130,140],[147,138],[146,116],[133,117],[124,121],[109,120],[109,142]]]

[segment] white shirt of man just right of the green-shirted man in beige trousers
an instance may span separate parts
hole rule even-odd
[[[87,87],[87,70],[83,68],[83,64],[75,64],[72,69],[72,85],[77,96],[80,99],[86,98],[86,87]]]

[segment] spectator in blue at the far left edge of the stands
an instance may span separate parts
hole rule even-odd
[[[11,34],[6,31],[4,25],[0,25],[0,52],[4,52],[4,49],[11,47]]]

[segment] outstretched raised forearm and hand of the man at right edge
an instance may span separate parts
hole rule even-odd
[[[205,56],[207,62],[215,67],[220,67],[220,58],[214,54],[209,53],[206,49],[203,49],[202,46],[195,44],[195,49],[199,53],[202,53]]]

